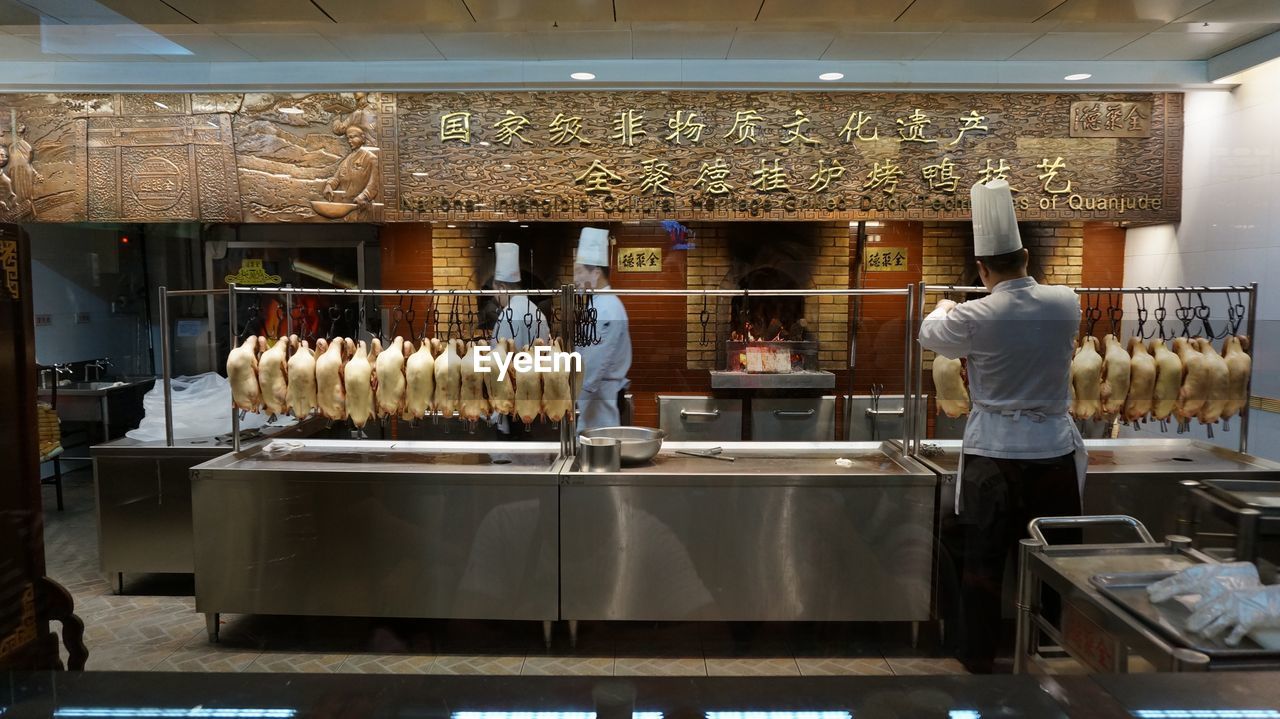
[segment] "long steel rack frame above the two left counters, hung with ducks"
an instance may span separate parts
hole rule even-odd
[[[163,289],[161,289],[163,292]],[[202,292],[218,292],[224,290],[192,290],[193,293]],[[613,294],[618,297],[865,297],[865,296],[888,296],[888,297],[902,297],[906,310],[906,322],[904,331],[904,348],[905,348],[905,361],[902,367],[902,386],[904,397],[911,397],[911,345],[914,343],[914,328],[915,328],[915,308],[916,308],[916,287],[908,285],[902,289],[864,289],[864,288],[851,288],[851,289],[768,289],[768,290],[750,290],[750,289],[579,289],[571,284],[561,285],[557,289],[340,289],[340,288],[293,288],[293,287],[238,287],[234,283],[228,284],[228,322],[230,326],[230,333],[234,336],[239,333],[237,326],[237,297],[239,294],[283,294],[288,299],[294,294],[325,294],[325,296],[347,296],[347,297],[470,297],[470,296],[494,296],[494,294],[524,294],[526,297],[559,297],[562,301],[563,311],[561,312],[561,333],[562,336],[570,339],[572,345],[572,329],[575,324],[573,317],[573,298],[575,297],[590,297],[594,294]],[[174,294],[174,293],[170,293]],[[164,296],[161,296],[161,299]],[[163,304],[163,302],[161,302]],[[288,312],[287,312],[288,315]],[[850,330],[852,331],[852,329]],[[567,351],[572,351],[568,347]],[[852,362],[852,358],[850,358]],[[168,385],[166,385],[168,386]],[[168,407],[168,400],[166,400]],[[910,439],[910,427],[913,426],[911,418],[914,415],[913,403],[904,403],[904,438],[902,443]],[[561,422],[561,453],[563,457],[572,457],[576,453],[575,439],[576,432],[573,426],[576,423],[576,406],[571,406],[570,416],[566,421]],[[232,413],[232,441],[234,450],[239,452],[239,412]]]

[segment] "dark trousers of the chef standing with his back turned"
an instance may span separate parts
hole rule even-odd
[[[1005,562],[1027,523],[1037,517],[1080,513],[1080,491],[1071,454],[1050,459],[996,459],[965,454],[963,510],[943,532],[955,591],[947,635],[970,670],[991,672],[1001,633],[1001,581]],[[1046,532],[1051,544],[1079,544],[1078,530]],[[957,586],[956,586],[957,585]],[[1051,608],[1046,608],[1053,612]]]

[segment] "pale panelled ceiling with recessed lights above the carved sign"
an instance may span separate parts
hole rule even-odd
[[[388,63],[451,78],[479,63],[518,83],[538,64],[621,63],[644,77],[654,63],[681,61],[713,82],[705,63],[717,60],[726,73],[813,63],[846,77],[891,63],[916,82],[928,82],[919,68],[955,61],[998,63],[1005,70],[984,72],[1010,77],[1047,65],[1055,79],[1092,63],[1149,68],[1130,78],[1142,83],[1172,77],[1152,63],[1185,77],[1185,63],[1207,67],[1267,36],[1230,56],[1271,52],[1277,31],[1280,0],[0,0],[0,61],[33,84],[64,86],[119,83],[120,63],[134,64],[142,86],[163,68],[172,83],[247,77],[250,64],[260,74],[288,64],[301,78],[300,63],[317,73],[349,63],[364,69],[338,74],[375,79]],[[0,77],[0,87],[18,83]]]

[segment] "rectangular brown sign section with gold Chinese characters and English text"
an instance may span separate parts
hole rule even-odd
[[[412,97],[398,151],[425,151],[439,170],[403,175],[406,216],[961,219],[969,187],[997,179],[1028,219],[1167,217],[1180,197],[1166,171],[1181,138],[1175,95]]]

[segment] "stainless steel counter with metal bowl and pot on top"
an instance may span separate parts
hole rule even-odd
[[[675,453],[713,446],[736,461]],[[640,467],[570,467],[562,618],[929,619],[936,485],[882,443],[668,441]]]

